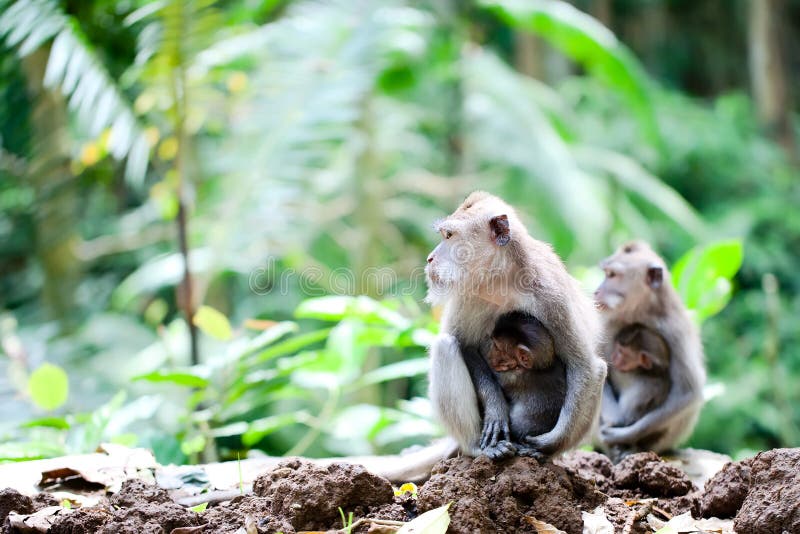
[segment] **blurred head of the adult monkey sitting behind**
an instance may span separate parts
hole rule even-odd
[[[594,297],[604,312],[623,313],[657,304],[669,278],[664,260],[643,241],[625,243],[600,267],[606,277]]]

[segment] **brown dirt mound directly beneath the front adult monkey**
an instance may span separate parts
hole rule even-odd
[[[454,533],[530,531],[537,519],[571,534],[583,530],[581,510],[604,500],[591,482],[561,466],[523,457],[493,463],[482,456],[437,464],[418,504],[425,512],[453,501]]]

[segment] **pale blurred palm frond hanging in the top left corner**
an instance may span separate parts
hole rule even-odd
[[[0,1],[0,38],[20,57],[52,41],[44,85],[69,98],[88,135],[110,129],[109,152],[127,158],[125,176],[140,184],[150,157],[144,130],[78,22],[50,0]]]

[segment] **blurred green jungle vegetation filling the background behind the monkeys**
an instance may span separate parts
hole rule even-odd
[[[682,257],[690,444],[800,446],[798,30],[797,0],[0,0],[0,458],[426,442],[421,267],[475,188],[588,290],[626,238]]]

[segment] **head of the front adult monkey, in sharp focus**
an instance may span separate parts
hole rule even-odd
[[[425,267],[429,302],[440,303],[454,292],[478,295],[487,287],[502,290],[513,265],[513,240],[525,232],[511,206],[476,191],[434,228],[442,240]]]

